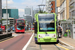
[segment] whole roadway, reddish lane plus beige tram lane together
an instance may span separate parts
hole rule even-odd
[[[22,50],[31,38],[33,31],[26,31],[26,33],[12,33],[13,38],[0,42],[0,50]],[[35,44],[33,36],[26,50],[69,50],[69,48],[70,47],[64,46],[60,43],[41,45]]]

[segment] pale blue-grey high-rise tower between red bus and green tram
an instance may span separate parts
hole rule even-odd
[[[26,27],[29,26],[30,28],[33,23],[33,9],[31,7],[25,7],[24,18],[26,20]]]

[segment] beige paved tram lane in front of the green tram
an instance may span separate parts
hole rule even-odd
[[[57,44],[35,44],[34,37],[26,50],[65,50],[57,46]]]

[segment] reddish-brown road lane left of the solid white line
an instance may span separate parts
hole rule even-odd
[[[22,50],[32,35],[31,33],[13,33],[13,38],[0,42],[0,50]]]

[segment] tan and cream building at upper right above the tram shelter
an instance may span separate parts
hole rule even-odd
[[[57,0],[58,20],[69,19],[69,0]]]

